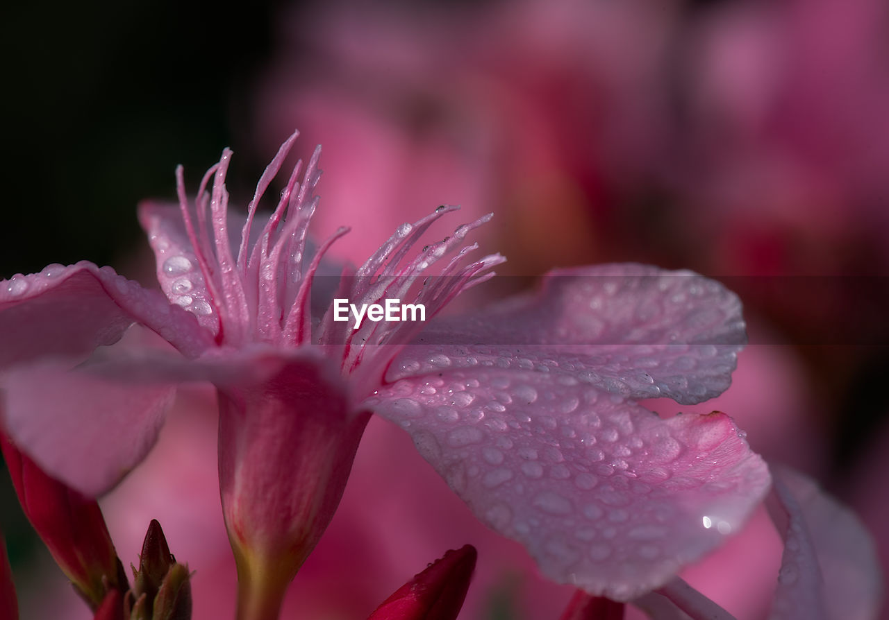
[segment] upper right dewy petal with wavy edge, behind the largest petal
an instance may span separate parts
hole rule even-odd
[[[484,314],[431,324],[387,379],[495,365],[693,404],[725,391],[745,342],[741,302],[718,282],[651,266],[579,267]]]

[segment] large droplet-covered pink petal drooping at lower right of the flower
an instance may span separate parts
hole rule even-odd
[[[365,405],[550,578],[613,600],[666,583],[739,529],[769,485],[725,414],[662,420],[533,371],[405,379]]]

